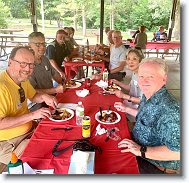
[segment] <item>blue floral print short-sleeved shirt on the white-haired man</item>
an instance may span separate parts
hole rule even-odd
[[[165,86],[148,100],[143,95],[132,136],[140,145],[167,146],[172,151],[180,151],[179,104]],[[147,160],[167,169],[180,167],[180,161]]]

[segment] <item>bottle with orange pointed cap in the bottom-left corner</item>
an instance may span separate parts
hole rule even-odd
[[[16,154],[12,152],[11,161],[8,164],[9,174],[24,174],[24,166],[22,160],[18,159]]]

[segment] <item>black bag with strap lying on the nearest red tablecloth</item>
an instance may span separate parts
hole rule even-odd
[[[93,144],[91,144],[89,142],[88,139],[80,139],[80,140],[77,140],[76,142],[74,142],[73,144],[71,144],[70,146],[64,148],[64,149],[61,149],[61,150],[57,150],[58,149],[58,146],[62,143],[62,139],[59,140],[54,148],[53,148],[53,151],[52,151],[52,154],[54,156],[58,156],[60,154],[62,154],[63,152],[67,151],[68,149],[70,149],[71,147],[73,147],[73,150],[74,151],[95,151],[95,150],[98,150],[99,153],[102,153],[102,149],[99,147],[99,146],[95,146]]]

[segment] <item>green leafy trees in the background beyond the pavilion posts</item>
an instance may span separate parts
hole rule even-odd
[[[41,19],[40,2],[36,0],[37,19]],[[30,3],[31,0],[0,0],[3,10],[0,25],[5,24],[7,13],[14,18],[30,18]],[[106,0],[104,3],[104,26],[113,24],[112,28],[122,31],[137,29],[142,24],[149,31],[157,30],[159,25],[168,28],[172,0]],[[10,8],[10,13],[5,7]],[[86,28],[92,29],[100,26],[100,0],[44,0],[44,12],[45,19],[56,20],[58,26],[86,24]]]

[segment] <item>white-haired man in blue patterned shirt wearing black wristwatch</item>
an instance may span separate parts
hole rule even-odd
[[[159,58],[142,61],[138,83],[143,92],[133,140],[123,139],[121,152],[137,156],[142,174],[179,173],[180,169],[180,111],[176,99],[168,93],[166,62]],[[117,110],[128,112],[127,107],[115,103]],[[132,112],[131,112],[132,113]]]

